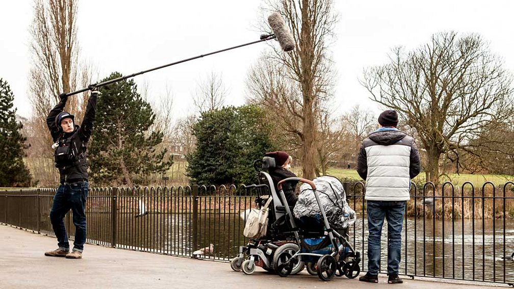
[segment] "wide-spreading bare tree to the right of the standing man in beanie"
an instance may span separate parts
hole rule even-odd
[[[488,124],[512,112],[511,77],[479,35],[444,32],[405,52],[395,48],[391,63],[365,70],[362,84],[372,99],[400,113],[427,151],[426,176],[438,182],[439,157],[478,155],[476,139]]]

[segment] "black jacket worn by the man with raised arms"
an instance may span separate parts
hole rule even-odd
[[[75,130],[71,133],[63,133],[55,123],[56,116],[64,110],[66,101],[60,101],[48,113],[46,124],[54,142],[59,142],[59,147],[68,145],[78,160],[59,168],[60,181],[63,183],[74,183],[87,180],[87,159],[86,145],[93,133],[93,122],[96,115],[97,94],[91,94],[87,101],[86,113],[82,126],[75,125]]]

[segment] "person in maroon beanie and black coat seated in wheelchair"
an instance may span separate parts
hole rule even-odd
[[[295,173],[288,170],[288,168],[290,168],[292,157],[286,152],[268,152],[265,154],[265,156],[269,156],[275,159],[275,167],[270,167],[268,171],[277,192],[279,191],[277,184],[281,180],[288,177],[298,177]],[[287,204],[289,207],[294,207],[298,201],[298,196],[296,195],[297,184],[298,182],[286,182],[282,184],[282,189],[284,190],[284,195],[286,196]]]

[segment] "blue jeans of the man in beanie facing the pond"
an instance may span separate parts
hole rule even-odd
[[[368,201],[368,273],[377,275],[380,270],[380,237],[384,217],[388,224],[387,250],[388,275],[398,274],[401,255],[401,229],[406,201]]]

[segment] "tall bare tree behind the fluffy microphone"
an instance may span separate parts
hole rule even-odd
[[[324,104],[333,95],[335,84],[328,50],[337,23],[334,1],[278,0],[267,4],[269,10],[282,15],[296,47],[285,53],[277,45],[271,46],[272,52],[250,71],[250,100],[276,112],[285,131],[296,135],[291,147],[298,143],[303,177],[313,178],[319,164],[319,119],[324,119]]]

